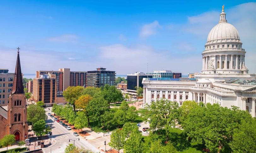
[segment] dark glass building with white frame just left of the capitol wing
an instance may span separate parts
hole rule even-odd
[[[127,93],[136,95],[135,87],[143,87],[142,80],[143,78],[152,78],[152,74],[145,74],[143,72],[136,72],[134,74],[127,74]]]

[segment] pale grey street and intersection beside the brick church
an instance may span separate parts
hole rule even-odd
[[[50,107],[45,108],[46,113],[49,112],[49,108]],[[94,152],[100,151],[98,148],[91,145],[87,140],[85,140],[81,136],[74,136],[72,130],[67,130],[61,124],[54,122],[53,119],[49,116],[47,122],[47,124],[49,125],[51,124],[50,122],[52,122],[52,143],[53,141],[55,141],[56,145],[44,149],[44,153],[50,153],[51,151],[54,151],[54,153],[63,153],[68,144],[74,143],[74,141],[72,140],[70,140],[69,142],[69,139],[77,139],[75,140],[75,146],[77,147],[83,146],[85,149],[90,149]],[[78,140],[78,138],[80,140]]]

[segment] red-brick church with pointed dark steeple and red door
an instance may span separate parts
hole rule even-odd
[[[0,139],[7,134],[24,141],[28,137],[26,97],[24,94],[18,48],[13,88],[7,106],[0,106]]]

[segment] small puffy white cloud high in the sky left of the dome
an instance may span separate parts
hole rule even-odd
[[[154,21],[150,24],[146,24],[142,26],[140,31],[140,37],[146,38],[148,36],[154,35],[157,32],[157,29],[161,28],[162,26],[159,25],[158,21]]]

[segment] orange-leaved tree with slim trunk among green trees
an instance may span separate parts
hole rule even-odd
[[[89,102],[92,100],[90,95],[82,95],[75,101],[75,105],[78,109],[81,109],[85,112],[88,125],[90,126],[90,118],[89,118],[89,111],[87,109]]]

